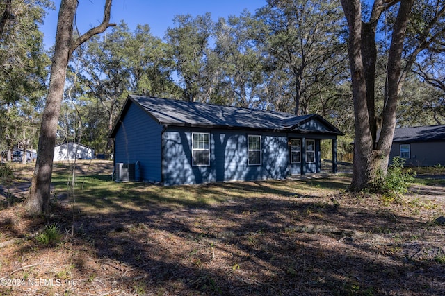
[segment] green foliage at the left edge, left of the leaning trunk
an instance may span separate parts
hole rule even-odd
[[[0,1],[0,15],[5,9]],[[48,0],[12,1],[13,17],[0,36],[0,145],[1,149],[37,144],[40,98],[46,93],[51,63],[43,46],[43,23]]]

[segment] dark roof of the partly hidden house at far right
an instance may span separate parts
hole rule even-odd
[[[445,141],[445,125],[396,128],[394,131],[394,143],[422,141]]]

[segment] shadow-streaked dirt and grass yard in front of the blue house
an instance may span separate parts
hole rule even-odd
[[[32,168],[1,180],[0,295],[445,295],[444,183],[394,201],[348,175],[160,187],[69,168],[47,216],[24,209]]]

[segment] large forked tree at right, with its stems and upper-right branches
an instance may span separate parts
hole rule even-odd
[[[421,22],[422,26],[418,30],[412,31],[415,37],[411,38],[412,43],[407,44],[407,28],[416,20],[412,19],[414,0],[375,0],[367,14],[363,13],[360,0],[341,0],[349,29],[348,55],[355,116],[353,180],[350,189],[364,189],[386,175],[396,128],[396,106],[403,82],[419,54],[444,34],[443,26],[439,25],[444,16],[444,3],[440,0],[430,2],[435,2],[430,17]],[[390,12],[394,18],[382,24],[385,12]],[[391,36],[386,53],[381,112],[377,112],[375,96],[375,65],[378,56],[376,33],[379,24]]]

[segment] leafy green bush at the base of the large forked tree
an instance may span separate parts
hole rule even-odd
[[[387,175],[381,175],[373,184],[373,191],[382,193],[389,202],[397,200],[401,195],[408,192],[410,183],[414,181],[411,169],[404,167],[405,159],[394,157],[388,168]]]

